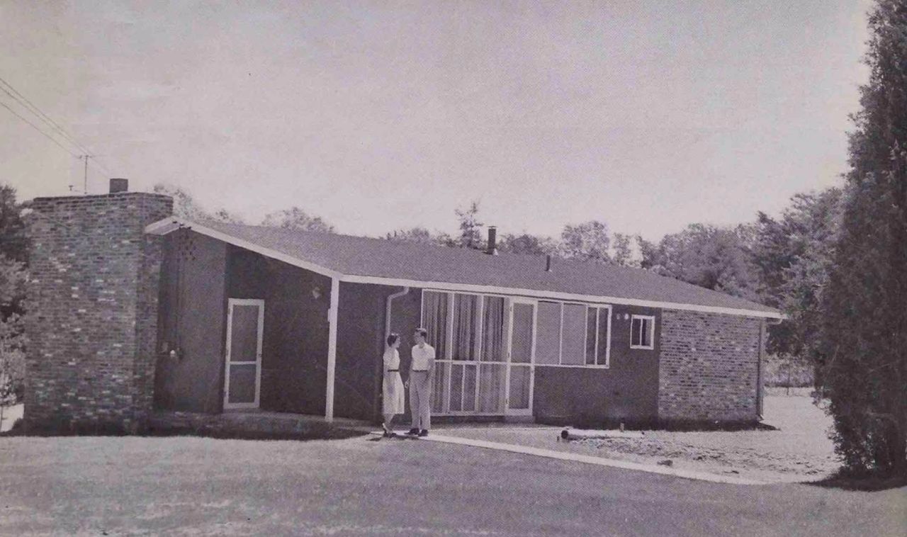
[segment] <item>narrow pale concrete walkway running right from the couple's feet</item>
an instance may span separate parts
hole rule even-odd
[[[381,432],[371,431],[371,434],[380,435]],[[734,477],[731,475],[708,474],[706,472],[695,472],[692,470],[681,470],[670,466],[658,466],[651,464],[630,463],[628,461],[619,461],[615,459],[606,459],[584,454],[572,454],[551,449],[541,449],[538,447],[529,447],[518,444],[502,444],[500,442],[488,442],[485,440],[473,440],[471,438],[461,438],[457,436],[444,436],[443,434],[429,434],[419,440],[430,442],[441,442],[444,444],[469,445],[472,447],[482,447],[484,449],[493,449],[497,451],[509,451],[511,453],[535,455],[547,457],[549,459],[558,459],[561,461],[573,461],[576,463],[596,464],[598,466],[611,466],[613,468],[623,468],[625,470],[639,470],[649,472],[649,474],[673,475],[684,479],[695,479],[697,481],[707,481],[709,483],[728,483],[728,484],[767,484],[754,479],[743,477]]]

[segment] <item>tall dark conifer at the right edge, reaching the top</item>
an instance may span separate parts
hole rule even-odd
[[[844,215],[812,352],[851,472],[907,476],[907,4],[869,17]]]

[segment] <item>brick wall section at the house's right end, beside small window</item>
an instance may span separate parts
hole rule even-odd
[[[661,422],[755,422],[761,320],[662,312],[658,366]]]

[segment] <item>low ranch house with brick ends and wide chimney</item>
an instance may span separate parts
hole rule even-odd
[[[778,311],[647,270],[172,216],[125,191],[39,198],[25,422],[159,411],[373,421],[381,356],[437,350],[433,413],[754,424]]]

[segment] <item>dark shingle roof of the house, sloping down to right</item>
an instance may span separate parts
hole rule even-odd
[[[553,259],[548,272],[543,256],[491,256],[474,249],[241,224],[206,222],[204,226],[346,276],[532,289],[780,315],[774,308],[644,269]]]

